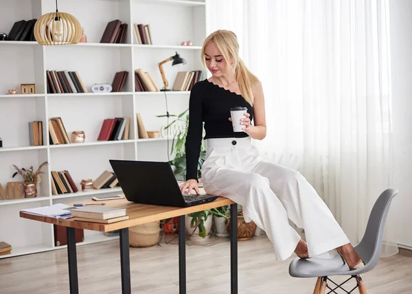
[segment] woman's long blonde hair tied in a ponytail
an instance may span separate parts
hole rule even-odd
[[[239,84],[240,93],[249,104],[253,105],[252,85],[254,82],[258,82],[259,79],[247,69],[239,57],[239,43],[236,34],[228,30],[217,30],[207,36],[205,42],[203,42],[201,52],[202,63],[205,67],[205,47],[209,42],[216,44],[216,47],[222,52],[223,58],[225,58],[229,67],[231,67],[231,62],[233,62],[233,69],[235,70],[235,77]]]

